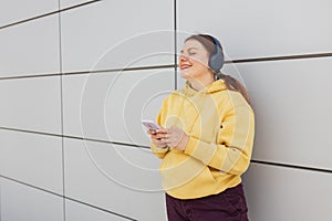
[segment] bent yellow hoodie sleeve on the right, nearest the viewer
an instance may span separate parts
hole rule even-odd
[[[253,130],[255,116],[249,105],[229,107],[221,122],[217,144],[189,136],[185,154],[222,172],[241,175],[250,164]]]

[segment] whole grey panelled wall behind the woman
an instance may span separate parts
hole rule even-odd
[[[166,220],[142,118],[217,36],[256,112],[250,220],[332,214],[329,0],[1,0],[0,220]]]

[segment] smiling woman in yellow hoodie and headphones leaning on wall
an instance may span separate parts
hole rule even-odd
[[[245,87],[220,69],[224,53],[210,35],[189,36],[179,55],[185,88],[163,102],[148,130],[169,221],[245,221],[241,175],[253,145],[255,117]]]

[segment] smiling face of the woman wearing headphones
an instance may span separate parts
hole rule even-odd
[[[204,45],[190,39],[185,42],[179,54],[179,69],[183,78],[199,78],[207,73],[210,73],[208,67],[209,54]]]

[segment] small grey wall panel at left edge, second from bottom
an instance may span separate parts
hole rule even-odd
[[[0,175],[62,193],[61,138],[0,129]]]

